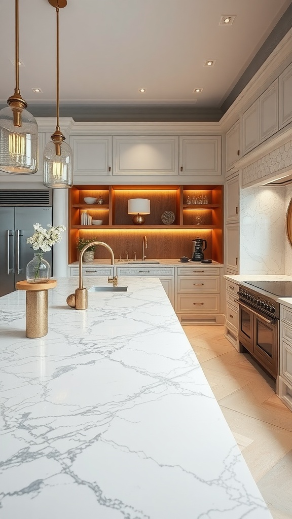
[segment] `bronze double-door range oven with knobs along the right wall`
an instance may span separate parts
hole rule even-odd
[[[280,304],[246,285],[239,286],[240,352],[246,350],[274,379],[278,375]]]

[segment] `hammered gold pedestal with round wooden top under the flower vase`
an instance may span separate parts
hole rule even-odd
[[[48,333],[48,290],[57,286],[56,279],[47,283],[28,283],[18,281],[17,290],[26,290],[25,335],[30,339],[44,337]]]

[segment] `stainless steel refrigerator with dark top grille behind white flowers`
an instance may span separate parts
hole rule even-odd
[[[12,193],[12,196],[11,196]],[[20,196],[19,196],[20,195]],[[24,205],[4,207],[4,204],[16,200]],[[52,225],[51,196],[47,191],[0,192],[0,296],[15,290],[17,281],[26,279],[26,265],[33,258],[34,250],[26,243],[34,233],[33,224],[43,227]],[[42,203],[43,207],[29,205]],[[8,203],[7,203],[8,206]],[[44,258],[51,266],[52,251],[46,252]]]

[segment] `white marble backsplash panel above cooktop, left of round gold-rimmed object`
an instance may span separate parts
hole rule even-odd
[[[240,206],[240,274],[285,274],[285,188],[247,187]]]

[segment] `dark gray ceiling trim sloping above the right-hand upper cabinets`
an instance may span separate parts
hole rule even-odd
[[[288,9],[286,9],[282,18],[280,18],[278,23],[275,25],[274,29],[269,34],[266,41],[263,43],[254,59],[250,62],[241,78],[237,81],[235,87],[232,89],[228,97],[221,105],[221,111],[223,114],[227,112],[228,108],[230,108],[232,103],[234,103],[235,99],[246,87],[249,81],[254,77],[254,75],[258,72],[260,67],[270,56],[270,54],[273,52],[276,46],[281,42],[281,40],[284,38],[285,34],[287,34],[287,32],[291,29],[291,27],[292,3],[289,5]]]

